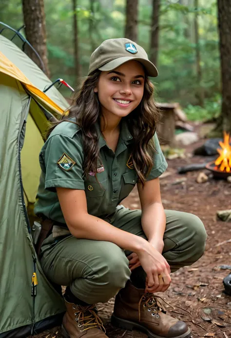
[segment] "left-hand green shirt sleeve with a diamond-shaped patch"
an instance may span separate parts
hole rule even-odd
[[[45,173],[45,189],[55,192],[57,187],[84,190],[83,149],[77,135],[54,135],[48,139],[39,155]]]

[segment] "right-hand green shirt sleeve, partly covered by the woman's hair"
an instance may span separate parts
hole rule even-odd
[[[165,170],[168,167],[168,163],[164,157],[164,154],[162,153],[156,133],[154,134],[153,138],[154,138],[154,145],[155,145],[155,151],[153,155],[153,167],[148,177],[146,178],[147,181],[151,179],[156,179],[161,174],[163,174],[163,172],[165,172]]]

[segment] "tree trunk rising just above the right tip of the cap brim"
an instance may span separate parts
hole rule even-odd
[[[159,12],[160,0],[153,0],[153,13],[151,22],[150,61],[157,65],[159,47]]]

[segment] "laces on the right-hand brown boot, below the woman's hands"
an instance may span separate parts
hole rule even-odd
[[[143,307],[147,307],[148,311],[152,312],[152,316],[155,316],[156,318],[159,318],[159,315],[158,315],[159,312],[162,312],[162,311],[166,312],[164,304],[162,304],[158,298],[173,308],[173,306],[169,304],[166,300],[164,300],[162,297],[151,294],[151,293],[146,293],[142,295],[139,300],[139,321],[140,321],[141,305],[143,305]]]

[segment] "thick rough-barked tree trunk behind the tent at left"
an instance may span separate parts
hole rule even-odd
[[[44,68],[35,52],[25,46],[26,54],[50,77],[46,47],[46,24],[43,0],[22,0],[26,39],[39,53]]]

